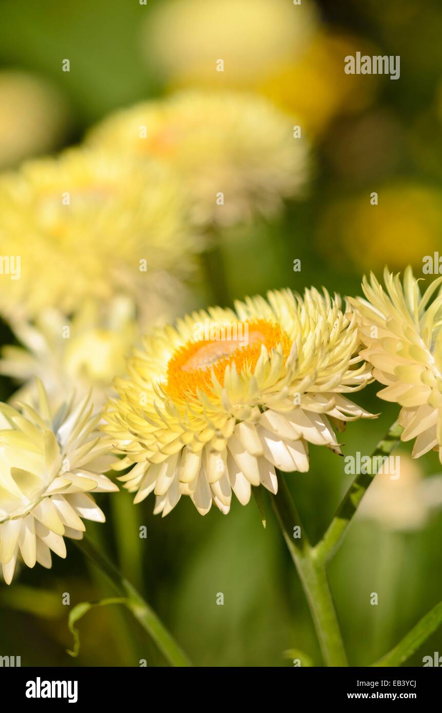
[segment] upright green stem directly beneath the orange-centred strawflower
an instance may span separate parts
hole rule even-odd
[[[315,558],[281,473],[278,473],[278,493],[272,498],[272,504],[306,593],[324,661],[327,666],[348,666],[325,565]],[[299,530],[294,532],[293,528]],[[301,536],[294,536],[298,534]]]

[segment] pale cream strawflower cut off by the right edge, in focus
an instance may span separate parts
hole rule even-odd
[[[423,296],[411,267],[403,286],[399,275],[387,269],[384,282],[386,291],[373,274],[370,282],[364,277],[367,299],[350,300],[366,344],[361,356],[373,364],[373,376],[386,386],[378,396],[401,404],[401,440],[416,438],[413,458],[434,448],[442,463],[442,277]]]

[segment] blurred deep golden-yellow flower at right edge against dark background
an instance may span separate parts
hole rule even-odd
[[[414,180],[396,180],[353,198],[340,198],[324,210],[318,224],[318,245],[327,259],[342,265],[342,256],[356,270],[421,270],[423,257],[433,255],[442,235],[442,193]]]

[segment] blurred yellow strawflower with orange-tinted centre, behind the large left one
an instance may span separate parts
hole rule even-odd
[[[293,138],[293,120],[248,94],[191,91],[145,102],[104,120],[89,141],[169,163],[189,188],[198,224],[268,215],[306,180],[306,143]]]

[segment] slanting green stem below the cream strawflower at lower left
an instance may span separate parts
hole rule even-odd
[[[116,566],[100,552],[87,535],[84,536],[83,540],[73,541],[81,552],[86,557],[89,557],[96,567],[111,580],[116,592],[120,596],[126,597],[126,606],[131,610],[144,630],[151,635],[169,663],[172,666],[179,667],[191,666],[191,662],[161,623],[154,610],[149,607],[134,586],[121,575]]]

